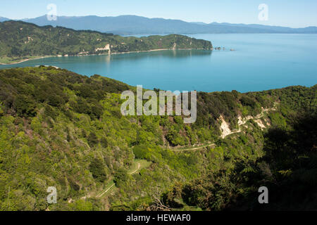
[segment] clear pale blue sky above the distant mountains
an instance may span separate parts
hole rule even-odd
[[[257,23],[287,27],[317,26],[317,0],[1,0],[0,16],[35,18],[56,4],[58,15],[142,15],[187,22]],[[268,20],[259,20],[259,4]]]

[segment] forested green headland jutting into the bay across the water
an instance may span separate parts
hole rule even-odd
[[[179,34],[120,37],[65,27],[39,27],[22,21],[0,23],[0,63],[39,56],[85,56],[155,49],[212,49],[210,41]]]

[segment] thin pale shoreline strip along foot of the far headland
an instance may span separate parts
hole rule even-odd
[[[19,63],[24,63],[30,60],[37,60],[41,58],[56,58],[56,57],[81,57],[81,56],[105,56],[105,55],[118,55],[118,54],[128,54],[128,53],[142,53],[142,52],[151,52],[151,51],[168,51],[168,50],[210,50],[213,49],[150,49],[150,50],[144,50],[144,51],[123,51],[123,52],[114,52],[114,53],[101,53],[101,54],[87,54],[87,55],[77,55],[77,56],[39,56],[35,58],[26,58],[24,60],[20,60],[15,63],[0,63],[0,65],[15,65]]]

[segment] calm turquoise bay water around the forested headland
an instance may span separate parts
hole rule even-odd
[[[228,51],[152,51],[30,60],[147,89],[241,92],[317,84],[317,34],[194,34]],[[229,51],[235,49],[235,51]]]

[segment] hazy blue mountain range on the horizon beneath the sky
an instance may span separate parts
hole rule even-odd
[[[0,18],[3,22],[7,18]],[[268,25],[245,25],[231,23],[187,23],[182,20],[163,18],[145,18],[137,15],[120,15],[116,17],[58,16],[57,20],[47,20],[46,15],[38,18],[23,19],[36,25],[68,27],[74,30],[95,30],[113,34],[213,34],[213,33],[317,33],[317,27],[290,28]]]

